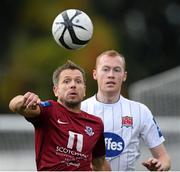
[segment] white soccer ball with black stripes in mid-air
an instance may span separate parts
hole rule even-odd
[[[93,24],[83,11],[68,9],[54,19],[52,34],[61,47],[70,50],[80,49],[92,38]]]

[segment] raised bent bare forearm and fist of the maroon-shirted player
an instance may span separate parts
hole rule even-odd
[[[27,92],[14,97],[9,103],[9,108],[25,117],[35,117],[40,114],[39,103],[40,98],[36,94]]]

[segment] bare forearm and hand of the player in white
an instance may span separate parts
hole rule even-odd
[[[142,162],[142,164],[150,171],[168,171],[171,167],[171,162],[168,153],[163,144],[152,148],[153,157]]]

